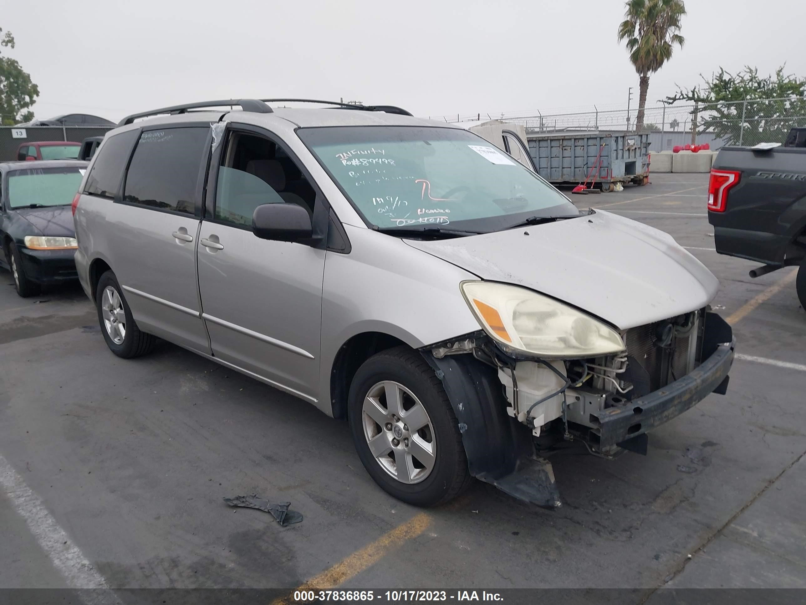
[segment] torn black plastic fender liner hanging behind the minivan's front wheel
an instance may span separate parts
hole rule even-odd
[[[496,370],[469,354],[422,355],[451,401],[470,474],[525,502],[559,507],[551,464],[534,456],[529,428],[507,415]]]

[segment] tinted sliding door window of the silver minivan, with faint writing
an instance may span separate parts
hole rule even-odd
[[[131,158],[124,201],[192,215],[209,131],[206,127],[144,131]]]

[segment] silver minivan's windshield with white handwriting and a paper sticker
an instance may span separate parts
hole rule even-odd
[[[339,126],[297,134],[376,227],[493,232],[580,215],[558,190],[469,131]]]

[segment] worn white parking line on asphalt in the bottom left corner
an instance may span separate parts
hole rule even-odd
[[[73,544],[73,540],[70,540],[64,529],[56,523],[56,519],[45,508],[42,499],[25,484],[23,478],[2,456],[0,456],[0,486],[8,495],[15,511],[25,519],[39,546],[67,580],[70,588],[109,588],[103,576],[87,561],[81,550]],[[104,593],[104,602],[120,603],[111,592],[107,593],[105,590]],[[82,595],[82,598],[87,596],[89,595]],[[101,596],[100,593],[98,596]]]

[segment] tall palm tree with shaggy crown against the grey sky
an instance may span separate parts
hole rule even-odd
[[[679,35],[680,19],[686,14],[683,0],[627,0],[624,21],[618,26],[618,41],[627,41],[629,60],[638,72],[640,94],[635,130],[644,125],[646,91],[650,73],[655,73],[667,60],[677,44],[683,48],[685,39]]]

